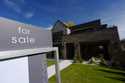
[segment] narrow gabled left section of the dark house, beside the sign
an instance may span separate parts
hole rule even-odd
[[[52,29],[52,39],[53,39],[53,46],[59,47],[60,58],[63,58],[62,39],[65,34],[67,34],[66,26],[61,21],[57,21]],[[53,54],[50,54],[50,55],[53,55]]]

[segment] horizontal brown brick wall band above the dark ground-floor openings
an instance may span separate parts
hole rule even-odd
[[[110,40],[119,42],[119,36],[117,28],[109,28],[100,31],[93,32],[83,32],[80,34],[66,35],[63,38],[63,42],[72,43],[72,42],[94,42]]]

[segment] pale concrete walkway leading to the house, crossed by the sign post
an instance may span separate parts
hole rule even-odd
[[[61,60],[59,63],[59,67],[60,67],[60,71],[67,68],[68,66],[70,66],[72,64],[72,60]],[[55,65],[49,66],[47,68],[47,72],[48,72],[48,79],[50,77],[52,77],[53,75],[55,75]]]

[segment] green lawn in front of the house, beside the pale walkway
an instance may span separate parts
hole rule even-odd
[[[125,71],[96,65],[72,64],[61,72],[62,83],[125,83]],[[49,83],[56,83],[55,76]]]

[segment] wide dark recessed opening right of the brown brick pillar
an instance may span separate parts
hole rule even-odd
[[[80,43],[80,52],[84,60],[89,60],[92,57],[103,57],[105,60],[110,60],[107,41],[82,42]]]

